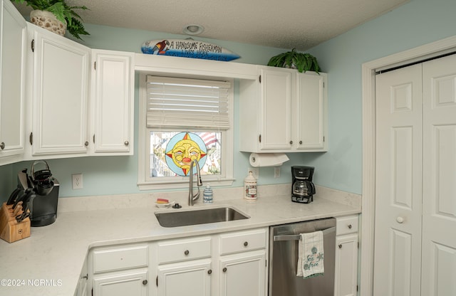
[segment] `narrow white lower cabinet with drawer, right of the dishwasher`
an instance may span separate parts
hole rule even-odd
[[[358,292],[358,215],[336,218],[334,296]]]

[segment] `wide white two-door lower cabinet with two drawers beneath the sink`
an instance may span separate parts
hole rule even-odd
[[[152,243],[150,295],[265,296],[267,228]]]

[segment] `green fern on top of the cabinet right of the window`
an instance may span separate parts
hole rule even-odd
[[[280,68],[295,68],[300,73],[303,71],[304,73],[306,73],[306,71],[315,71],[318,74],[321,70],[314,56],[310,53],[299,53],[295,48],[286,53],[280,53],[277,56],[273,56],[269,60],[268,65]]]

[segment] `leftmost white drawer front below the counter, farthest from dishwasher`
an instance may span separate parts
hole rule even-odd
[[[148,263],[149,248],[147,245],[93,251],[93,273],[146,267]]]

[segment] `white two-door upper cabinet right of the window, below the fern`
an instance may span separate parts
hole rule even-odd
[[[259,67],[240,82],[240,150],[323,152],[327,149],[326,73]]]

